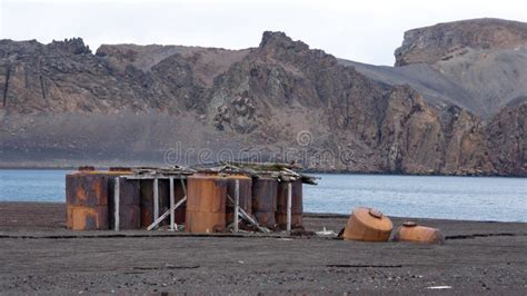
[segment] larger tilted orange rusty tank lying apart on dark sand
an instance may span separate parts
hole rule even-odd
[[[388,241],[394,225],[382,213],[371,208],[356,208],[344,230],[345,240]]]

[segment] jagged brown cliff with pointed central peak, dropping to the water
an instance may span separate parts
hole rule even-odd
[[[377,83],[354,68],[340,66],[335,57],[310,50],[280,32],[266,32],[260,47],[218,77],[217,82],[209,111],[216,114],[218,129],[241,134],[250,130],[257,138],[266,138],[270,127],[286,127],[292,135],[307,129],[312,136],[311,154],[338,158],[346,149],[352,155],[349,161],[331,164],[332,169],[493,171],[476,117],[463,112],[461,118],[441,121],[440,111],[410,87]],[[250,106],[250,117],[236,110],[235,103],[240,100]],[[284,109],[294,108],[301,108],[302,116],[277,120]],[[245,129],[240,129],[240,120],[247,124]],[[298,146],[292,135],[281,132],[276,141]]]

